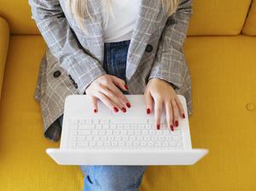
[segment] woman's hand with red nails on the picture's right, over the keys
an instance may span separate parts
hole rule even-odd
[[[149,114],[152,111],[154,102],[154,123],[160,130],[160,117],[163,104],[166,107],[166,122],[173,130],[173,126],[178,126],[178,116],[185,118],[183,106],[177,97],[172,85],[160,78],[150,78],[144,91],[146,109]],[[174,125],[175,124],[175,125]]]

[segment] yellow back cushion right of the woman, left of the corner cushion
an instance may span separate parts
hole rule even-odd
[[[251,0],[194,0],[189,35],[236,35],[246,20]]]

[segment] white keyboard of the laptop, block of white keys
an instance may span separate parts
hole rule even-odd
[[[183,149],[180,127],[172,131],[154,119],[69,119],[70,149]]]

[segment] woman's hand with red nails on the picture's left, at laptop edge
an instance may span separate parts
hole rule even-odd
[[[114,112],[121,109],[125,113],[125,106],[131,107],[131,102],[118,87],[122,90],[128,90],[123,79],[109,74],[103,74],[90,83],[85,90],[85,94],[91,97],[94,113],[98,111],[97,99],[100,99]]]

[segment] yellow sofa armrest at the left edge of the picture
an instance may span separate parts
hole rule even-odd
[[[9,26],[8,23],[0,17],[0,100],[3,84],[3,72],[5,67],[6,55],[9,46]]]

